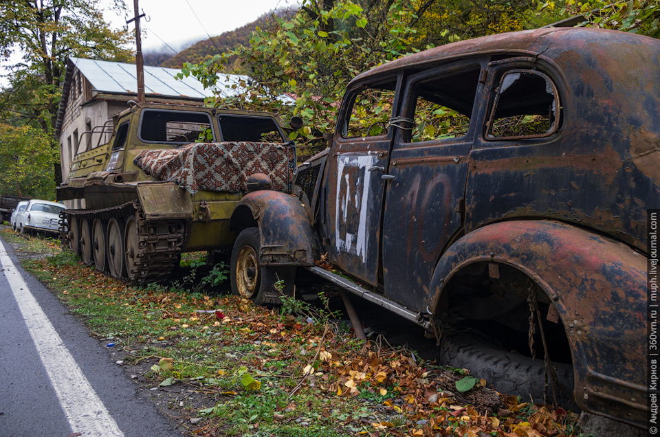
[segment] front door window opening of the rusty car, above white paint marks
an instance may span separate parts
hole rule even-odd
[[[388,133],[396,82],[363,89],[353,100],[351,113],[344,121],[342,137],[380,137]]]

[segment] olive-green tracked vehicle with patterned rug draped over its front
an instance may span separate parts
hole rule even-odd
[[[290,192],[295,161],[270,113],[135,104],[113,117],[107,144],[74,157],[57,199],[83,208],[63,211],[61,241],[115,278],[162,279],[182,251],[231,249],[248,185]]]

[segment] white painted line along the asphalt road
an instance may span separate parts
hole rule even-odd
[[[124,436],[30,293],[1,242],[0,264],[72,431],[83,436]]]

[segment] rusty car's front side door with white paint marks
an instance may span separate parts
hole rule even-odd
[[[347,90],[329,153],[327,208],[322,214],[329,260],[356,278],[378,284],[380,223],[400,78]]]

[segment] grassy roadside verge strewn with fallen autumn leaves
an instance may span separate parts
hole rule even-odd
[[[53,240],[0,235],[91,335],[114,344],[118,362],[186,435],[577,435],[574,414],[497,396],[478,375],[410,350],[358,341],[319,307],[267,310],[225,291],[177,287],[195,289],[206,276],[199,259],[182,262],[193,267],[175,272],[172,287],[130,287]]]

